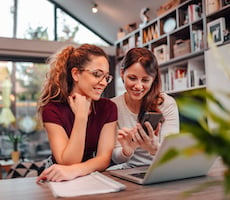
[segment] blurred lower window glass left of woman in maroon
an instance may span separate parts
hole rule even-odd
[[[25,158],[43,159],[49,155],[49,142],[39,126],[36,107],[48,68],[46,64],[0,62],[0,157],[8,158],[12,151],[6,129],[3,129],[6,124],[8,130],[19,131],[23,136],[19,150]],[[9,96],[3,95],[6,85],[10,88]],[[15,121],[3,114],[6,100]]]

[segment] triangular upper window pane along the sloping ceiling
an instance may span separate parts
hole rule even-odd
[[[90,43],[109,46],[104,40],[80,24],[63,10],[57,9],[57,38],[58,41],[70,41],[78,44]]]

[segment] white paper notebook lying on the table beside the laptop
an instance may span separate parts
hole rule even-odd
[[[100,172],[93,172],[70,181],[49,182],[49,187],[55,197],[76,197],[119,192],[126,188],[125,185]]]

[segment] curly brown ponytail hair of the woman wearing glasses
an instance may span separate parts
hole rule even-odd
[[[83,44],[78,48],[67,46],[48,59],[50,71],[38,100],[38,112],[50,101],[66,102],[74,81],[71,75],[73,67],[84,69],[92,56],[108,56],[96,45]]]

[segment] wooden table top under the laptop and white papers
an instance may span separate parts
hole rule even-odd
[[[126,190],[116,193],[87,195],[74,198],[59,199],[81,199],[81,200],[222,200],[229,199],[224,195],[223,187],[224,166],[221,160],[217,160],[211,168],[208,176],[190,178],[161,184],[142,186],[119,178],[115,180],[125,184]],[[108,172],[104,174],[110,176]],[[2,179],[0,180],[0,199],[1,200],[54,200],[47,183],[38,185],[36,177]],[[214,183],[211,186],[202,188],[202,185]],[[200,188],[200,190],[199,190]],[[191,192],[187,196],[186,192]]]

